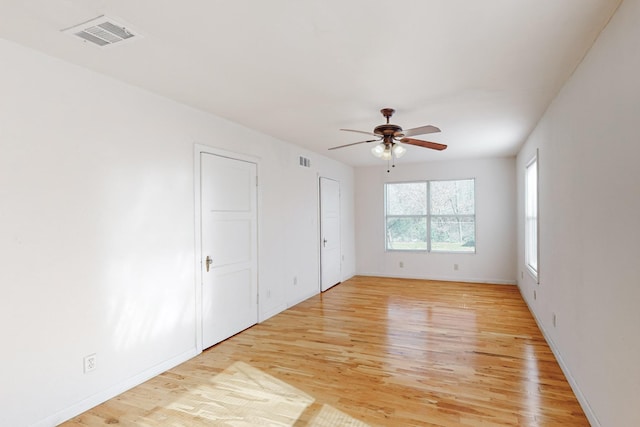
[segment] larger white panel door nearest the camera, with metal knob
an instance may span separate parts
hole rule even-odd
[[[256,173],[200,154],[203,348],[258,322]]]

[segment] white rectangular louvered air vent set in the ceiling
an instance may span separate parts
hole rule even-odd
[[[100,47],[108,47],[140,38],[128,25],[104,15],[80,25],[62,30],[63,33],[79,37]]]

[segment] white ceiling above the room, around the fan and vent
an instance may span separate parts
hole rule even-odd
[[[327,149],[383,107],[449,145],[402,162],[514,155],[620,2],[0,0],[0,37],[357,166],[371,144]],[[99,15],[144,37],[60,32]]]

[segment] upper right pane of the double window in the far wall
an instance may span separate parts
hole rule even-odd
[[[432,181],[429,189],[432,215],[475,214],[473,179]]]

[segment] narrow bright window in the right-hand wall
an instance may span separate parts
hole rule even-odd
[[[538,156],[525,171],[524,259],[528,270],[538,278]]]

